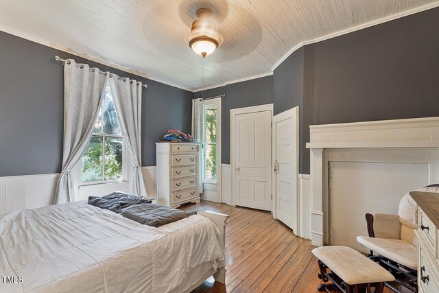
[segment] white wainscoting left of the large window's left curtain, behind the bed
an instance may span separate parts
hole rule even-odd
[[[59,176],[38,174],[0,177],[0,213],[52,204]]]

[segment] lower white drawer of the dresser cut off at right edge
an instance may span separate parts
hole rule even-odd
[[[418,286],[422,288],[421,292],[431,293],[439,292],[438,280],[434,273],[435,265],[431,260],[429,253],[424,248],[419,247],[419,269],[418,269]]]

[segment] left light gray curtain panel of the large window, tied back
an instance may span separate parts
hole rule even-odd
[[[64,62],[64,144],[62,169],[54,204],[74,200],[71,169],[78,163],[91,139],[108,74],[69,59]]]

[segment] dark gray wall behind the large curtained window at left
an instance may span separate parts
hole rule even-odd
[[[102,71],[141,80],[143,165],[155,165],[154,142],[169,128],[191,131],[193,93],[0,32],[0,176],[57,173],[61,169],[64,73],[74,58]]]

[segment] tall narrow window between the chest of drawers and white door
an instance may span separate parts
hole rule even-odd
[[[204,121],[204,181],[217,180],[217,106],[206,105]]]

